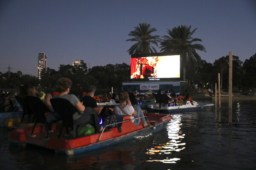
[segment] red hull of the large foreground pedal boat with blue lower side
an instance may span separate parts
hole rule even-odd
[[[12,144],[26,145],[32,144],[47,149],[55,150],[55,153],[73,155],[84,153],[90,150],[107,147],[114,144],[119,144],[125,141],[134,139],[137,136],[155,133],[165,129],[167,123],[172,119],[171,115],[145,113],[148,116],[151,126],[143,127],[142,122],[139,126],[134,126],[130,116],[124,116],[122,122],[122,132],[119,132],[117,127],[106,129],[102,135],[95,133],[89,136],[73,138],[70,136],[61,135],[58,139],[58,132],[61,123],[52,124],[52,132],[49,132],[50,139],[44,138],[44,125],[35,127],[34,133],[36,136],[30,136],[32,127],[24,129],[12,130],[10,139]],[[65,130],[63,130],[65,131]]]

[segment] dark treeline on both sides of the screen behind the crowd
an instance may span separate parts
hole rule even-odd
[[[218,73],[221,74],[221,88],[228,88],[228,58],[221,57],[215,62],[201,61],[198,68],[190,67],[187,71],[188,81],[210,83],[218,82]],[[0,72],[0,89],[18,89],[19,85],[28,82],[42,89],[55,89],[57,80],[60,77],[67,77],[72,80],[73,92],[79,94],[88,85],[96,85],[98,89],[122,90],[122,82],[130,81],[130,65],[108,64],[105,66],[94,66],[87,69],[86,63],[81,60],[81,65],[60,65],[58,71],[47,68],[43,70],[41,80],[37,77],[25,74],[21,71],[8,74]],[[243,62],[239,57],[233,56],[233,89],[235,91],[248,91],[256,88],[256,54]],[[234,91],[234,92],[235,92]],[[99,91],[101,93],[102,91]],[[106,91],[107,92],[107,91]]]

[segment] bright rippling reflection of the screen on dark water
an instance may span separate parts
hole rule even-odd
[[[181,115],[173,115],[173,119],[169,121],[167,125],[167,134],[168,139],[170,139],[168,142],[163,144],[157,144],[155,143],[154,147],[151,149],[148,149],[148,152],[146,152],[148,155],[166,155],[168,157],[163,156],[163,159],[152,159],[148,161],[160,161],[163,163],[177,163],[177,161],[180,160],[180,158],[169,158],[172,156],[171,154],[173,152],[180,152],[181,150],[185,149],[186,143],[182,142],[182,139],[184,138],[185,134],[183,134],[181,128]],[[156,158],[156,156],[154,156]]]

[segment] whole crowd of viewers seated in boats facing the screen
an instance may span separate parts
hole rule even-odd
[[[52,96],[51,94],[46,94],[43,91],[36,91],[35,86],[25,84],[20,85],[20,91],[19,94],[17,94],[17,91],[12,91],[9,94],[6,94],[5,91],[1,91],[0,93],[0,104],[1,104],[1,111],[6,112],[8,108],[6,108],[7,105],[16,105],[17,100],[15,96],[18,96],[20,99],[25,99],[26,96],[37,96],[40,98],[44,104],[49,108],[49,110],[54,113],[54,109],[52,108],[50,99],[52,98],[63,98],[67,99],[80,113],[84,113],[87,107],[93,108],[94,111],[94,120],[96,125],[97,132],[101,132],[105,125],[100,124],[100,119],[102,115],[103,106],[98,105],[96,102],[96,99],[94,99],[94,94],[96,92],[96,86],[90,85],[87,88],[87,91],[84,93],[79,99],[74,94],[70,93],[70,88],[72,86],[72,82],[68,78],[61,78],[57,81],[57,88],[56,91],[58,92],[57,95]],[[134,107],[133,105],[136,105],[138,103],[145,102],[146,100],[155,100],[157,103],[163,103],[165,105],[176,105],[177,102],[182,101],[190,101],[192,102],[191,97],[189,94],[186,94],[185,97],[182,95],[176,95],[175,93],[170,93],[169,91],[162,91],[161,89],[158,90],[157,94],[151,93],[148,95],[147,93],[141,94],[141,92],[134,92],[134,91],[128,91],[128,92],[121,92],[120,94],[117,94],[113,92],[110,93],[104,93],[102,96],[103,102],[109,102],[111,100],[115,100],[116,102],[119,102],[119,105],[116,106],[113,109],[113,112],[111,112],[114,115],[122,115],[122,116],[131,116],[132,122],[135,126],[140,125],[140,121],[142,122],[143,127],[147,127],[149,124],[145,120],[145,117],[143,117],[143,111],[142,109],[137,106]],[[23,103],[21,103],[23,104]],[[54,113],[56,119],[59,118]],[[73,121],[73,120],[70,120]]]

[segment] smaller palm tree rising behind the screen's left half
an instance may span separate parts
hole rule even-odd
[[[134,31],[131,31],[129,36],[134,38],[128,39],[126,41],[135,41],[136,43],[129,48],[127,52],[129,54],[135,53],[156,53],[156,49],[152,44],[157,46],[157,42],[160,42],[158,35],[151,35],[152,32],[157,31],[156,28],[150,28],[150,24],[140,23],[139,26],[134,27]]]

